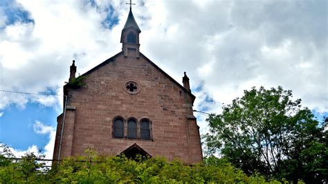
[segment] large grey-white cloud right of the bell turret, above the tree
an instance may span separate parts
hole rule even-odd
[[[141,33],[146,45],[140,50],[170,74],[188,71],[192,86],[203,82],[203,90],[218,103],[230,103],[252,86],[281,85],[310,109],[327,112],[325,5],[208,1],[199,8],[165,1],[161,27]],[[156,10],[152,13],[149,23],[156,21]],[[170,33],[172,26],[176,33]]]

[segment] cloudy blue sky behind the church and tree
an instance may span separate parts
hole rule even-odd
[[[17,156],[52,158],[69,66],[83,74],[120,52],[127,2],[0,1],[0,142]],[[327,1],[132,2],[140,52],[181,84],[187,72],[194,109],[220,113],[252,86],[282,86],[328,116]]]

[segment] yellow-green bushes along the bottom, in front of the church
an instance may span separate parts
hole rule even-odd
[[[22,160],[0,156],[0,183],[278,183],[263,176],[246,176],[226,160],[210,157],[205,165],[183,165],[164,158],[139,160],[124,156],[103,157],[93,151],[87,156],[67,158],[44,169],[37,156],[26,154]],[[11,155],[12,156],[12,155]]]

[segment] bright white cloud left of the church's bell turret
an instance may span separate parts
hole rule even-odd
[[[19,3],[34,22],[18,21],[0,30],[0,89],[30,93],[59,89],[68,80],[73,59],[78,73],[84,73],[120,50],[119,44],[113,44],[111,30],[101,26],[104,12],[82,1]],[[48,7],[51,10],[46,10]],[[28,100],[16,96],[6,93],[0,109],[12,103],[24,107]],[[46,106],[55,102],[53,98],[19,95],[26,97]]]

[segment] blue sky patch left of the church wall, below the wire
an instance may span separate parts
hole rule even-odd
[[[36,121],[51,127],[57,126],[58,114],[55,109],[37,103],[28,102],[24,109],[10,105],[1,112],[3,116],[0,117],[0,142],[15,149],[26,150],[32,145],[42,148],[49,142],[48,134],[35,133],[33,125]]]

